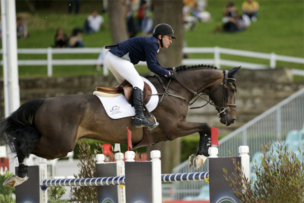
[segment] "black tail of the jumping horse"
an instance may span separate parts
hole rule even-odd
[[[43,101],[43,98],[27,101],[1,122],[1,137],[11,151],[17,154],[19,161],[29,157],[41,138],[40,132],[34,125],[34,116]]]

